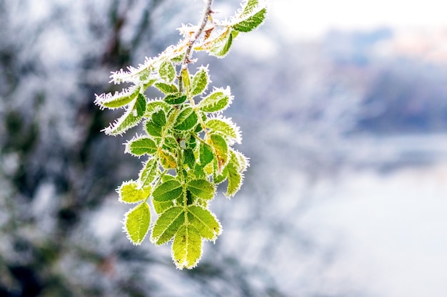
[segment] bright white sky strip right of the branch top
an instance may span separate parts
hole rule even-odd
[[[318,38],[331,29],[387,26],[400,29],[446,28],[446,5],[439,0],[273,0],[271,19],[286,36]]]

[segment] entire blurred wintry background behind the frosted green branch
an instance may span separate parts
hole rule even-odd
[[[447,296],[440,1],[275,0],[226,58],[196,56],[235,95],[245,183],[192,271],[126,239],[114,189],[141,160],[94,94],[202,5],[0,0],[0,296]]]

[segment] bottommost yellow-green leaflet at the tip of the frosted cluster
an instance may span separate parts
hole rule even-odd
[[[172,258],[178,269],[194,268],[202,255],[202,239],[192,225],[183,225],[172,244]]]

